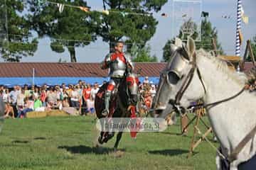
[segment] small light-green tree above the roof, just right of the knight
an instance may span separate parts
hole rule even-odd
[[[150,46],[139,48],[137,45],[132,45],[131,55],[134,57],[133,62],[157,62],[157,57],[150,55]]]

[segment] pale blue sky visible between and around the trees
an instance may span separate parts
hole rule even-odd
[[[177,3],[176,1],[178,0],[175,0],[175,3]],[[87,4],[92,10],[102,9],[102,0],[87,0]],[[161,8],[161,11],[154,13],[154,17],[159,24],[156,27],[156,33],[149,40],[148,45],[151,46],[151,55],[156,55],[159,62],[162,60],[162,48],[167,40],[174,38],[175,30],[178,30],[177,28],[179,27],[173,17],[174,13],[178,13],[178,7],[174,9],[173,6],[174,0],[169,0]],[[191,10],[195,10],[198,13],[198,10],[200,10],[198,5],[191,6],[193,6]],[[256,35],[256,1],[242,0],[242,7],[245,15],[249,16],[249,23],[247,25],[242,23],[244,41],[242,42],[241,56],[245,50],[246,40],[252,40]],[[209,13],[209,21],[218,30],[218,41],[221,43],[225,54],[235,55],[237,0],[202,0],[201,11],[207,11]],[[166,13],[167,17],[161,16],[161,13]],[[196,17],[195,13],[194,16]],[[222,16],[230,16],[230,18],[223,18]],[[109,45],[107,42],[102,42],[102,39],[99,38],[90,45],[76,48],[75,51],[78,62],[101,62],[109,51]],[[65,50],[63,53],[53,52],[50,50],[50,39],[43,38],[39,41],[38,50],[34,56],[23,57],[21,62],[58,62],[60,59],[70,62],[68,50]]]

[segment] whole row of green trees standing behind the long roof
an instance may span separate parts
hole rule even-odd
[[[38,49],[38,40],[50,38],[54,52],[68,50],[70,62],[77,62],[75,48],[84,47],[102,39],[109,43],[110,51],[114,42],[125,40],[127,51],[135,56],[134,62],[157,62],[150,55],[146,45],[156,33],[158,21],[151,13],[161,11],[167,0],[102,0],[102,6],[110,13],[85,12],[79,8],[66,7],[60,12],[56,3],[70,6],[85,6],[83,0],[58,0],[55,4],[45,0],[0,0],[0,52],[6,62],[19,62],[22,57],[33,56]],[[87,8],[88,10],[90,7]],[[140,13],[142,15],[134,15]],[[209,38],[217,40],[218,32],[205,17],[201,23],[202,45]],[[169,45],[163,48],[163,62],[169,60]]]

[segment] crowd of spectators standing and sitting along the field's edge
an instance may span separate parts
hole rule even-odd
[[[106,81],[103,82],[103,84]],[[26,118],[31,111],[51,111],[59,109],[73,115],[92,115],[95,113],[95,95],[102,84],[61,84],[56,86],[14,86],[9,89],[0,86],[0,97],[6,104],[5,118]],[[139,84],[139,104],[145,110],[151,108],[156,94],[156,86],[149,77]]]

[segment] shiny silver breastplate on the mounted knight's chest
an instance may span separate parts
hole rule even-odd
[[[110,64],[110,77],[124,77],[124,72],[127,68],[127,65],[122,62],[122,60],[117,57],[116,60],[112,61]]]

